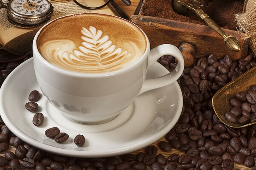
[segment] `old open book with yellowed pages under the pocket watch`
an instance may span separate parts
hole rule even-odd
[[[99,2],[102,4],[104,0],[97,0],[96,2]],[[6,1],[5,3],[7,3]],[[54,7],[54,12],[51,17],[51,20],[68,15],[68,14],[77,14],[77,13],[102,13],[102,14],[110,14],[110,15],[119,15],[115,9],[111,6],[111,4],[108,4],[108,6],[105,6],[104,8],[98,9],[98,10],[88,10],[84,9],[76,3],[73,2],[73,0],[62,0],[61,2],[49,0],[50,3],[52,3],[52,6]],[[84,0],[86,2],[86,0]],[[90,6],[90,4],[87,4]],[[94,5],[93,5],[94,6]],[[36,28],[18,28],[16,26],[12,26],[8,19],[7,19],[7,12],[6,8],[0,9],[0,49],[4,49],[6,51],[9,51],[13,54],[22,55],[25,53],[25,51],[32,49],[32,41],[33,37],[35,36],[36,32],[41,28],[42,26],[38,26]],[[1,54],[0,54],[1,56]]]

